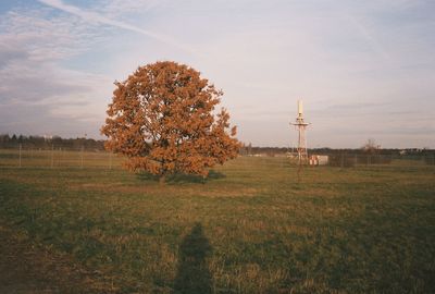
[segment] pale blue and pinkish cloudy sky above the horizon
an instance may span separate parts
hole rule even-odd
[[[114,81],[185,63],[254,146],[435,148],[435,1],[0,0],[0,133],[103,138]]]

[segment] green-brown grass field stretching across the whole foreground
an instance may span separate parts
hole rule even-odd
[[[434,166],[241,157],[159,185],[114,162],[0,164],[3,290],[435,292]]]

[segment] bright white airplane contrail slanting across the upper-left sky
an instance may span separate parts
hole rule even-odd
[[[78,16],[78,17],[80,17],[84,21],[89,22],[89,23],[100,23],[100,24],[105,24],[105,25],[111,25],[111,26],[114,26],[114,27],[127,29],[127,30],[130,30],[130,32],[136,32],[138,34],[151,37],[151,38],[153,38],[156,40],[159,40],[161,42],[165,42],[167,45],[171,45],[173,47],[176,47],[176,48],[182,49],[184,51],[187,51],[189,53],[195,53],[195,50],[192,48],[190,48],[190,47],[188,47],[188,46],[186,46],[184,44],[181,44],[181,42],[172,39],[169,36],[164,36],[162,34],[157,34],[157,33],[153,33],[153,32],[150,32],[150,30],[146,30],[146,29],[142,29],[140,27],[137,27],[137,26],[134,26],[134,25],[130,25],[130,24],[127,24],[127,23],[124,23],[124,22],[111,20],[111,19],[108,19],[104,15],[101,15],[101,14],[96,13],[96,12],[90,12],[90,11],[86,11],[86,10],[79,9],[77,7],[65,4],[65,3],[62,2],[62,0],[38,0],[38,1],[40,3],[42,3],[42,4],[48,5],[48,7],[55,8],[55,9],[59,9],[61,11],[67,12],[70,14],[76,15],[76,16]]]

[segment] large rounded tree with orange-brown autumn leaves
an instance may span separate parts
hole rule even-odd
[[[105,147],[125,155],[126,167],[159,175],[208,175],[240,147],[229,114],[215,106],[223,95],[196,70],[172,61],[138,68],[115,82],[101,133]]]

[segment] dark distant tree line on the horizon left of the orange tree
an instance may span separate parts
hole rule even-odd
[[[13,134],[0,134],[0,148],[17,148],[22,146],[24,149],[82,149],[85,150],[104,150],[104,140],[96,140],[92,138],[62,138],[60,136],[23,136]]]

